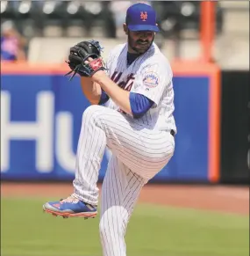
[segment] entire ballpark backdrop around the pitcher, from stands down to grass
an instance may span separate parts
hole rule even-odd
[[[136,2],[1,1],[1,255],[102,255],[98,217],[41,208],[72,192],[89,106],[79,77],[64,77],[68,50],[99,40],[105,60],[126,41]],[[178,133],[175,156],[141,193],[128,255],[249,255],[249,2],[143,2],[157,11],[155,42],[174,71]]]

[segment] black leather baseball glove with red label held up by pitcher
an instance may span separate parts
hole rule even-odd
[[[75,77],[75,74],[81,77],[92,77],[96,71],[104,70],[101,51],[102,48],[96,40],[82,41],[75,45],[75,47],[70,48],[67,63],[71,70],[65,75],[68,76],[73,73],[69,81]],[[86,64],[85,61],[87,61],[89,57],[92,58],[93,61]]]

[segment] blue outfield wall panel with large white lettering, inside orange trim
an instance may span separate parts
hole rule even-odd
[[[2,180],[72,180],[82,113],[79,78],[2,75]],[[175,156],[153,181],[208,181],[210,77],[174,77]],[[104,155],[100,180],[108,162]]]

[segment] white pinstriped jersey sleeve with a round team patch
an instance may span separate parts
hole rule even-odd
[[[139,77],[134,82],[133,92],[145,95],[148,99],[158,105],[163,94],[170,83],[172,76],[168,69],[164,69],[159,63],[148,65],[141,70]]]

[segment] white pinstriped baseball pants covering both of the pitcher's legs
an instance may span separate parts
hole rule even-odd
[[[125,229],[139,192],[168,164],[175,140],[116,110],[89,106],[82,115],[73,185],[75,196],[92,205],[98,203],[96,182],[106,146],[112,156],[102,188],[100,236],[104,256],[125,256]]]

